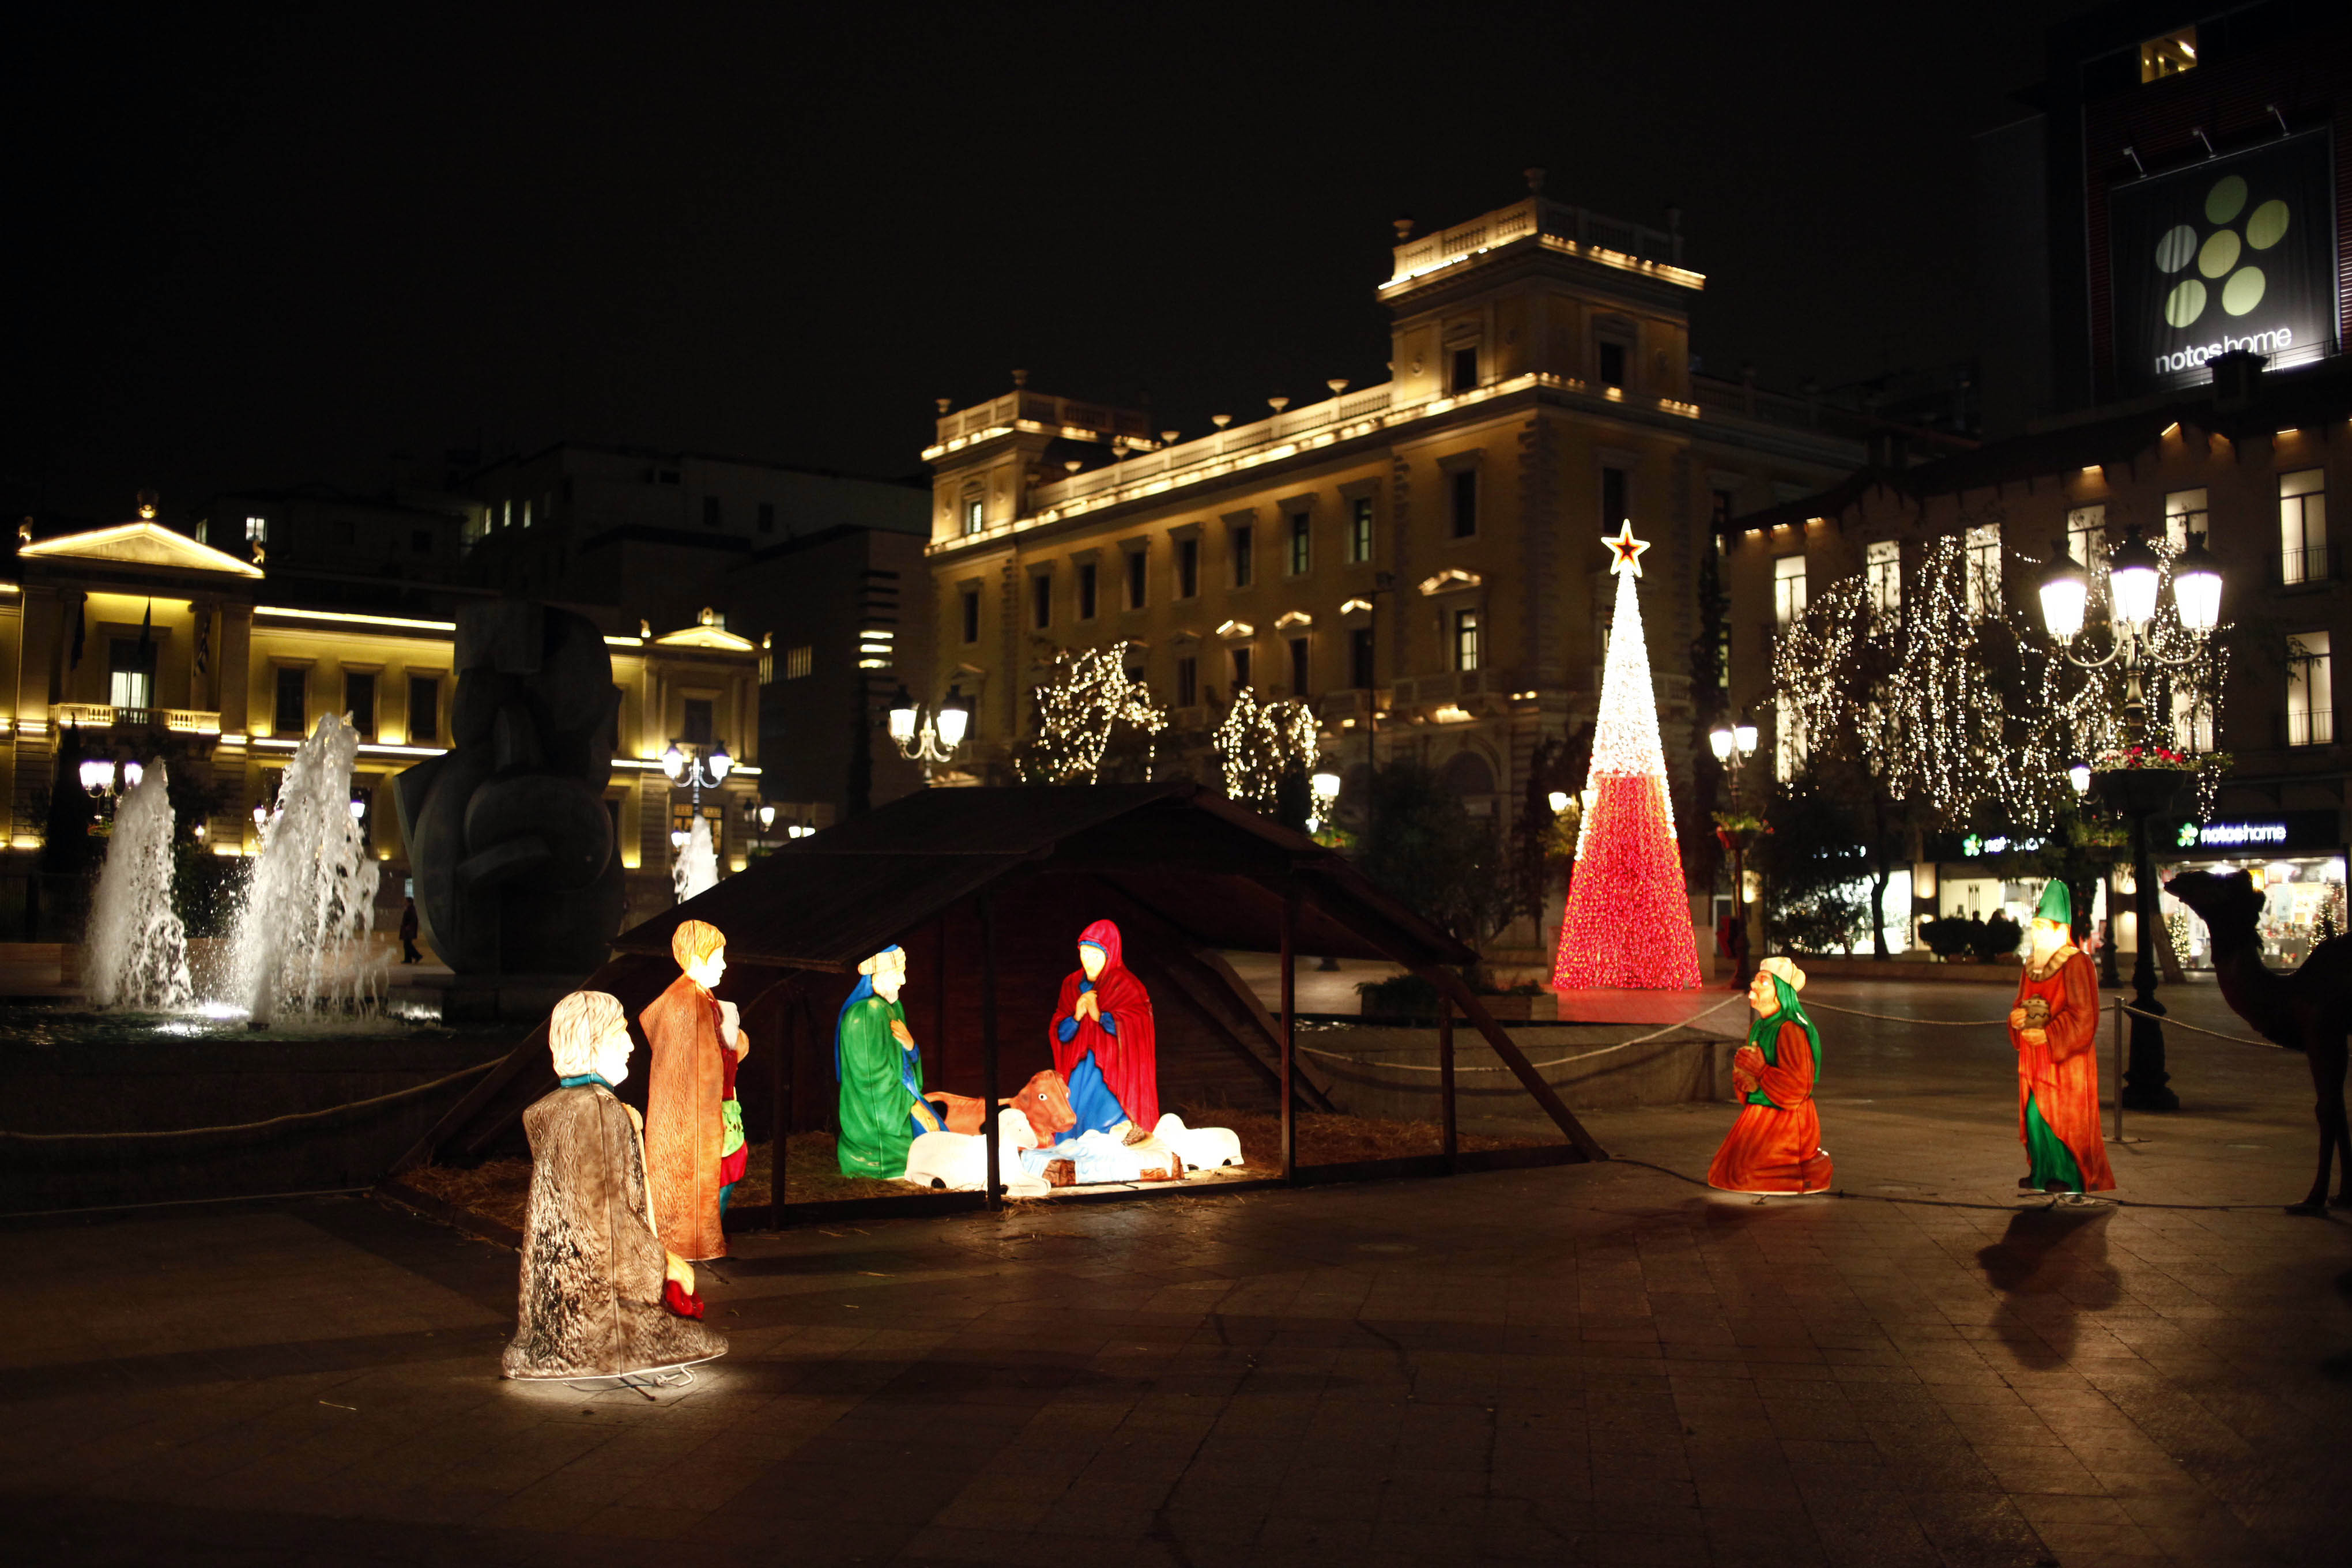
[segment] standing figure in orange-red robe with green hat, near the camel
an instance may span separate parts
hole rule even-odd
[[[2009,1011],[2018,1048],[2018,1192],[2112,1192],[2098,1131],[2098,971],[2070,940],[2074,896],[2051,877],[2027,926],[2025,973]]]

